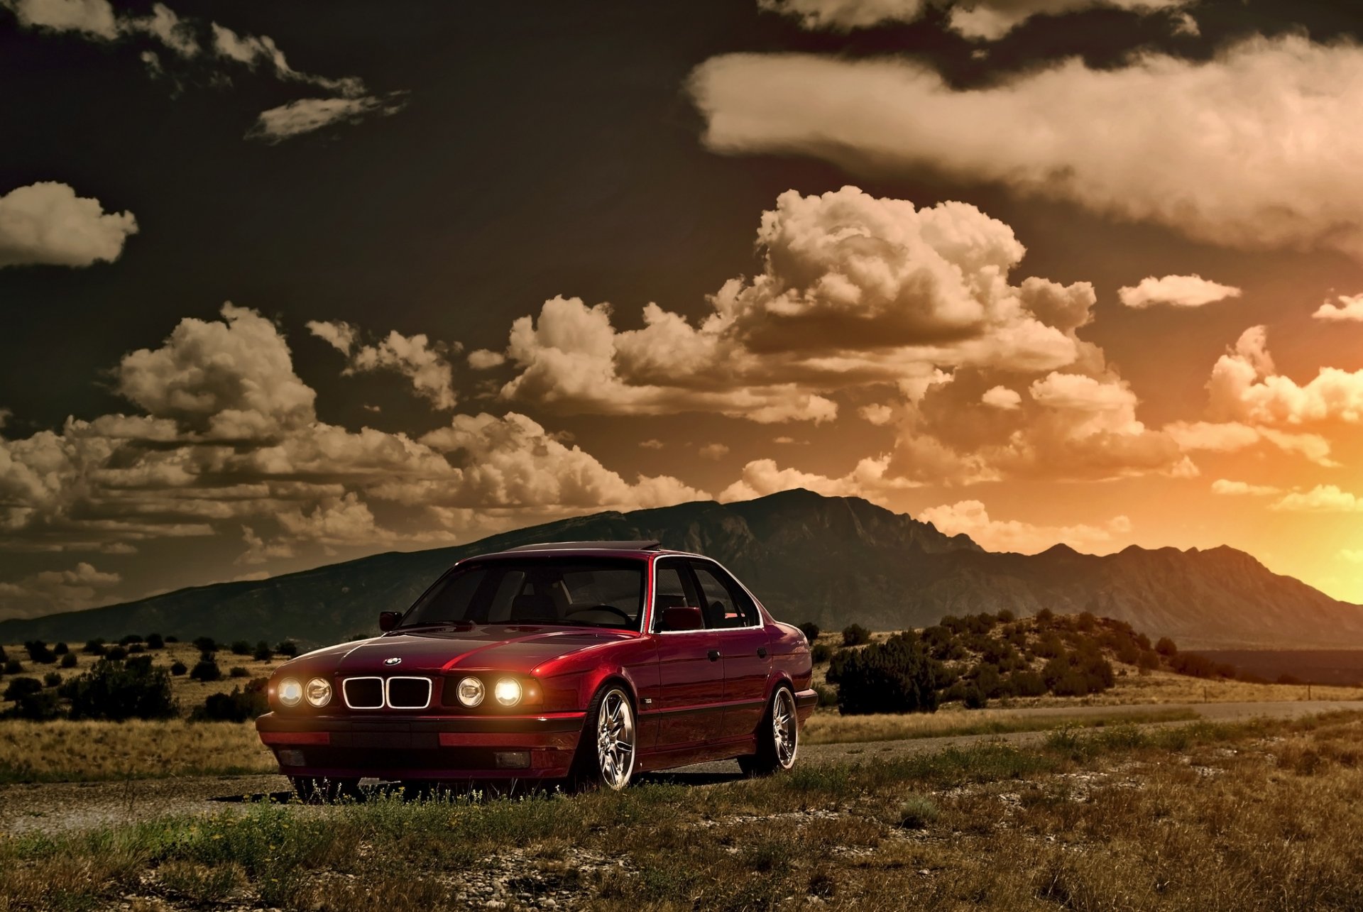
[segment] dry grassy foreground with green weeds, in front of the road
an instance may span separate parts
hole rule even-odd
[[[0,840],[0,911],[1358,909],[1363,713]],[[127,907],[124,907],[127,908]]]

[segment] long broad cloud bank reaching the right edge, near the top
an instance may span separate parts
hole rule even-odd
[[[898,59],[740,53],[701,64],[690,91],[720,153],[932,172],[1202,241],[1363,259],[1363,49],[1348,41],[1253,37],[1209,60],[1141,52],[1104,68],[1073,59],[983,87]]]

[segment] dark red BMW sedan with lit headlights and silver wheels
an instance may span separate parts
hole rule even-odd
[[[305,797],[365,777],[620,789],[728,758],[771,773],[818,702],[799,628],[717,562],[656,541],[469,558],[379,626],[270,679],[256,729]]]

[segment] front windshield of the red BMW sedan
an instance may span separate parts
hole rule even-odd
[[[399,627],[581,624],[639,628],[646,563],[602,558],[517,558],[466,563],[423,594]]]

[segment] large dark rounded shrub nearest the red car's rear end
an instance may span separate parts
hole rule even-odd
[[[840,654],[846,657],[838,672],[844,714],[936,712],[936,663],[915,634]]]

